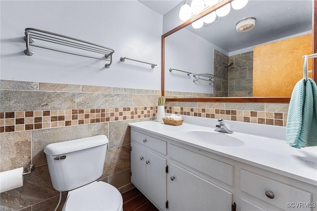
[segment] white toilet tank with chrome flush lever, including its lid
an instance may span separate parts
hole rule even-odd
[[[104,171],[108,138],[98,135],[44,148],[53,188],[69,191],[97,180]]]

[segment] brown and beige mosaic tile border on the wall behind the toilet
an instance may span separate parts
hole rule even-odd
[[[0,133],[156,117],[157,106],[0,112]]]

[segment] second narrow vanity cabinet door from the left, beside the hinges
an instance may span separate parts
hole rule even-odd
[[[147,195],[155,202],[160,210],[166,210],[166,159],[146,152]]]

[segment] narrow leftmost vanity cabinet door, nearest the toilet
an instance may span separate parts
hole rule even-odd
[[[146,150],[131,143],[131,182],[146,193]]]

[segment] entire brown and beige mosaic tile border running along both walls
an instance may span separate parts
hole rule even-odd
[[[165,106],[166,113],[286,126],[287,113]],[[157,106],[0,112],[0,133],[156,117]]]

